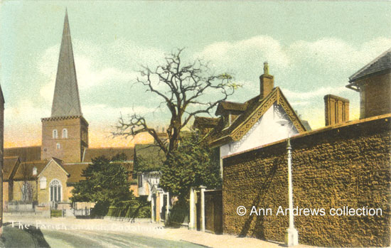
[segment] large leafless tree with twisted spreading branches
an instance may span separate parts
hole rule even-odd
[[[164,65],[155,70],[143,66],[136,84],[146,87],[146,91],[154,93],[162,99],[160,106],[166,106],[171,114],[166,129],[168,140],[159,139],[158,131],[149,126],[146,118],[132,114],[129,119],[120,117],[114,136],[136,136],[148,133],[154,137],[155,143],[168,156],[178,148],[181,130],[198,114],[209,114],[218,102],[232,95],[239,85],[232,82],[227,73],[215,75],[208,63],[195,60],[183,63],[183,48],[166,55]],[[209,96],[209,97],[208,97]],[[213,100],[211,100],[213,99]]]

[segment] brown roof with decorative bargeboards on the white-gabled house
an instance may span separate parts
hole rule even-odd
[[[245,111],[227,128],[222,125],[223,122],[220,122],[219,126],[213,129],[210,134],[211,146],[222,146],[232,141],[239,141],[242,139],[242,136],[254,126],[259,118],[262,117],[267,109],[272,107],[274,103],[279,104],[284,109],[297,131],[306,131],[306,127],[301,122],[301,119],[299,119],[296,112],[294,112],[294,109],[286,100],[282,91],[279,87],[275,87],[267,97],[264,97],[264,99],[259,99],[259,96],[257,96],[245,102]]]

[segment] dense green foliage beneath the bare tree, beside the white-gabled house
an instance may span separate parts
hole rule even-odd
[[[195,133],[183,138],[161,172],[160,186],[179,198],[186,198],[191,187],[219,188],[222,183],[218,160],[213,159],[213,151]]]

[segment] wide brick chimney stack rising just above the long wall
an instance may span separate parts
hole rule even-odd
[[[324,115],[326,126],[348,122],[349,100],[335,95],[325,95]]]

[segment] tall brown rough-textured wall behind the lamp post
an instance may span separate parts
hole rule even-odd
[[[299,243],[317,246],[390,245],[391,114],[328,126],[291,139],[294,206],[324,208],[295,216]],[[228,234],[284,240],[288,217],[286,142],[223,159],[223,227]],[[239,216],[238,206],[247,207]],[[272,215],[251,215],[251,207]],[[331,216],[331,207],[382,208],[382,216]]]

